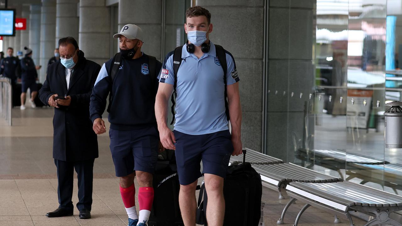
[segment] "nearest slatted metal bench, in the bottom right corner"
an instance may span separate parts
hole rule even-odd
[[[357,211],[374,217],[365,226],[393,225],[401,223],[390,218],[390,214],[402,210],[402,196],[367,187],[350,181],[336,183],[291,182],[286,186],[292,199],[306,203],[297,214],[294,226],[310,206],[337,216],[345,216],[353,226],[349,211]]]

